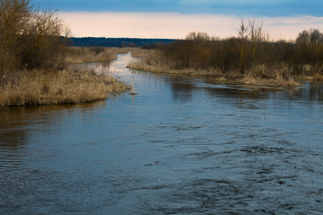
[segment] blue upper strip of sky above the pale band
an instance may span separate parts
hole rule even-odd
[[[323,16],[322,0],[33,0],[60,11],[212,13],[237,16]]]

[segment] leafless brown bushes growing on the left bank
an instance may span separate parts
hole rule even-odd
[[[69,34],[57,11],[39,11],[30,0],[0,0],[0,74],[62,68]]]

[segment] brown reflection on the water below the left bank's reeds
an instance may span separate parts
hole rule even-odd
[[[97,101],[85,104],[23,106],[0,110],[0,151],[2,152],[0,170],[10,171],[12,167],[22,165],[24,158],[28,157],[30,139],[41,141],[44,135],[51,135],[54,131],[55,135],[61,135],[64,130],[63,125],[73,121],[75,114],[84,118],[88,114],[105,108],[105,105],[105,101]]]

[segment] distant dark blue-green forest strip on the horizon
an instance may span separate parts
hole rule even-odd
[[[105,46],[105,47],[142,47],[153,44],[167,44],[174,39],[140,39],[140,38],[106,38],[106,37],[71,37],[71,46]]]

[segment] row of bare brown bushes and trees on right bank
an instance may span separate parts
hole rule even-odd
[[[304,30],[295,41],[270,41],[262,23],[241,20],[237,37],[211,38],[203,32],[191,32],[184,40],[160,46],[170,69],[214,68],[222,73],[252,72],[255,76],[323,74],[323,34]]]

